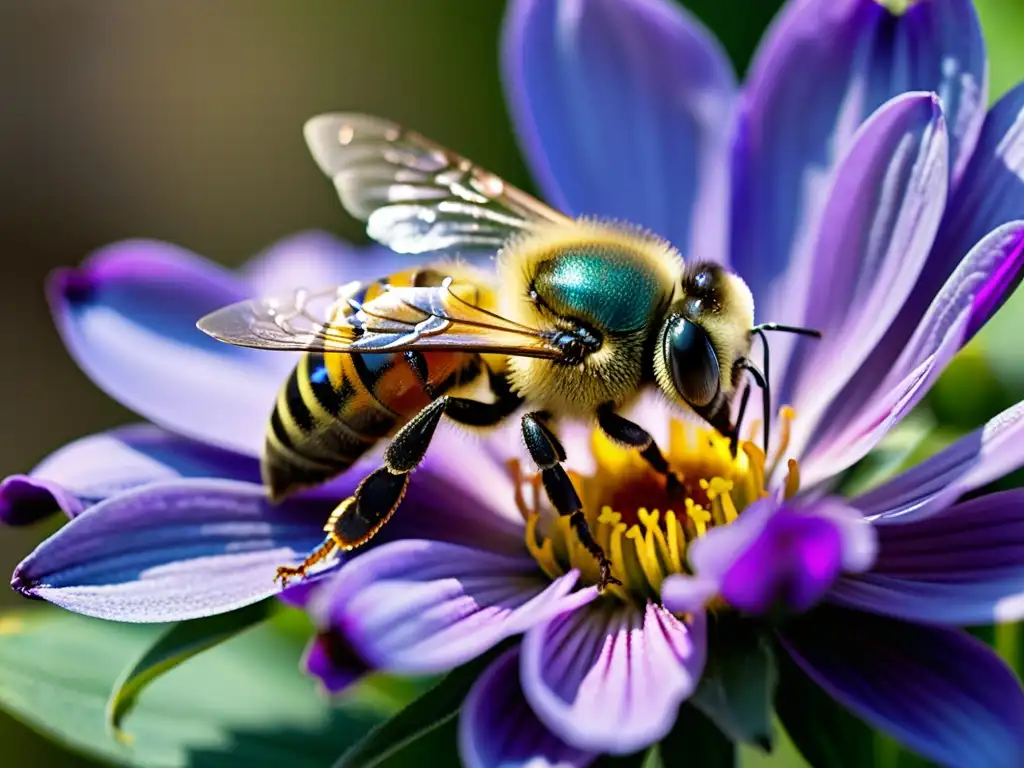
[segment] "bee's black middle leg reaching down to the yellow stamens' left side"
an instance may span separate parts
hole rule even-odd
[[[583,503],[572,486],[572,481],[565,474],[562,462],[565,461],[565,449],[544,422],[548,414],[535,412],[522,417],[522,437],[526,442],[529,456],[541,470],[544,489],[551,504],[562,516],[568,516],[569,523],[575,530],[580,543],[590,552],[601,569],[598,589],[603,590],[609,584],[622,584],[611,575],[611,562],[604,555],[604,550],[590,532],[587,518],[583,514]]]

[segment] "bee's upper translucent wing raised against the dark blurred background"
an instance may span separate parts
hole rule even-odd
[[[443,146],[380,118],[305,126],[321,169],[371,238],[398,253],[494,254],[510,236],[567,218]]]

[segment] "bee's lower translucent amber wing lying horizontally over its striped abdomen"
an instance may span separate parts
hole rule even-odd
[[[231,304],[199,322],[228,344],[261,349],[372,353],[446,349],[560,357],[536,329],[476,306],[477,288],[445,279],[440,286],[385,287],[359,303],[365,286]]]

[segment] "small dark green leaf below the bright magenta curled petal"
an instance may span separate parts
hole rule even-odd
[[[690,699],[729,738],[771,752],[778,674],[768,639],[741,621],[719,622],[711,656]]]

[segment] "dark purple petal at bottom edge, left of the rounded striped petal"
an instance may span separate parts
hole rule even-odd
[[[468,768],[583,768],[597,757],[569,746],[537,719],[519,687],[517,648],[495,659],[466,696],[459,756]]]

